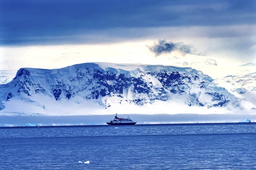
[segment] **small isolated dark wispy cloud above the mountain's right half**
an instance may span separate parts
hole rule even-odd
[[[148,46],[151,52],[153,52],[156,56],[160,54],[171,53],[172,51],[180,51],[187,54],[195,54],[195,49],[190,46],[183,44],[183,42],[173,43],[167,40],[158,40],[158,43],[154,43],[153,46]],[[199,54],[195,54],[199,55]]]

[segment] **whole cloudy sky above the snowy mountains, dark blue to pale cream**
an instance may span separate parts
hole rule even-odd
[[[173,51],[244,64],[255,30],[255,0],[1,0],[0,70],[165,64]]]

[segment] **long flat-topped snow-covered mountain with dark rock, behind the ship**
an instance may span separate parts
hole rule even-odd
[[[163,65],[96,62],[52,70],[20,68],[11,82],[0,85],[0,113],[152,114],[244,109],[244,99],[212,82],[201,71]]]

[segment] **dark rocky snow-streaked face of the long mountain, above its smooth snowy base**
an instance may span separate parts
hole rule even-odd
[[[57,102],[81,96],[111,107],[110,97],[136,105],[179,99],[186,105],[241,108],[237,98],[224,88],[210,85],[213,79],[201,71],[162,65],[83,63],[60,69],[20,68],[16,77],[0,85],[1,101],[19,96],[33,99],[44,94]],[[0,109],[4,104],[0,103]]]

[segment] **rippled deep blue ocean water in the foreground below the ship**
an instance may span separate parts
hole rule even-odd
[[[1,170],[252,170],[255,153],[256,124],[0,128]]]

